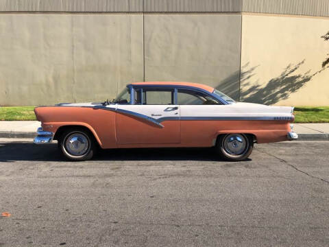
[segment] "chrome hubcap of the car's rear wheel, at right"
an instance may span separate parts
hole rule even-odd
[[[249,142],[244,134],[228,134],[223,139],[223,150],[231,156],[242,156],[248,148]]]

